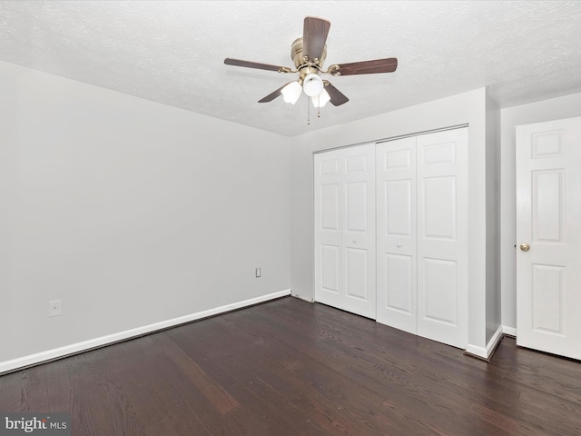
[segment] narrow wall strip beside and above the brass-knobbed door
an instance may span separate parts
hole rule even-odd
[[[502,324],[507,332],[517,329],[515,127],[581,115],[581,94],[571,94],[501,111],[500,283]]]

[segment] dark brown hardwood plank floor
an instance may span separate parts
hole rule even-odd
[[[73,435],[578,435],[581,363],[490,363],[288,297],[0,377],[0,411]]]

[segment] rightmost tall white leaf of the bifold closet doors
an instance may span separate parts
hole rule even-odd
[[[468,344],[468,129],[418,136],[418,334]]]

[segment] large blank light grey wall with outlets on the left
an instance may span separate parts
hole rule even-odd
[[[289,138],[13,64],[0,95],[0,363],[290,288]]]

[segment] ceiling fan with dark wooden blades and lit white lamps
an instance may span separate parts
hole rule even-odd
[[[241,61],[240,59],[224,59],[224,64],[257,68],[259,70],[276,71],[278,73],[299,73],[299,79],[283,84],[279,89],[261,98],[258,103],[271,102],[279,95],[284,101],[295,104],[301,92],[310,96],[315,107],[322,107],[327,102],[335,106],[349,102],[335,86],[328,80],[320,78],[320,74],[340,75],[392,73],[398,67],[398,59],[389,57],[372,61],[353,62],[350,64],[333,64],[325,71],[323,62],[327,55],[327,35],[330,22],[322,18],[307,16],[304,19],[302,37],[297,38],[291,45],[291,58],[295,69],[286,66],[261,64],[258,62]]]

